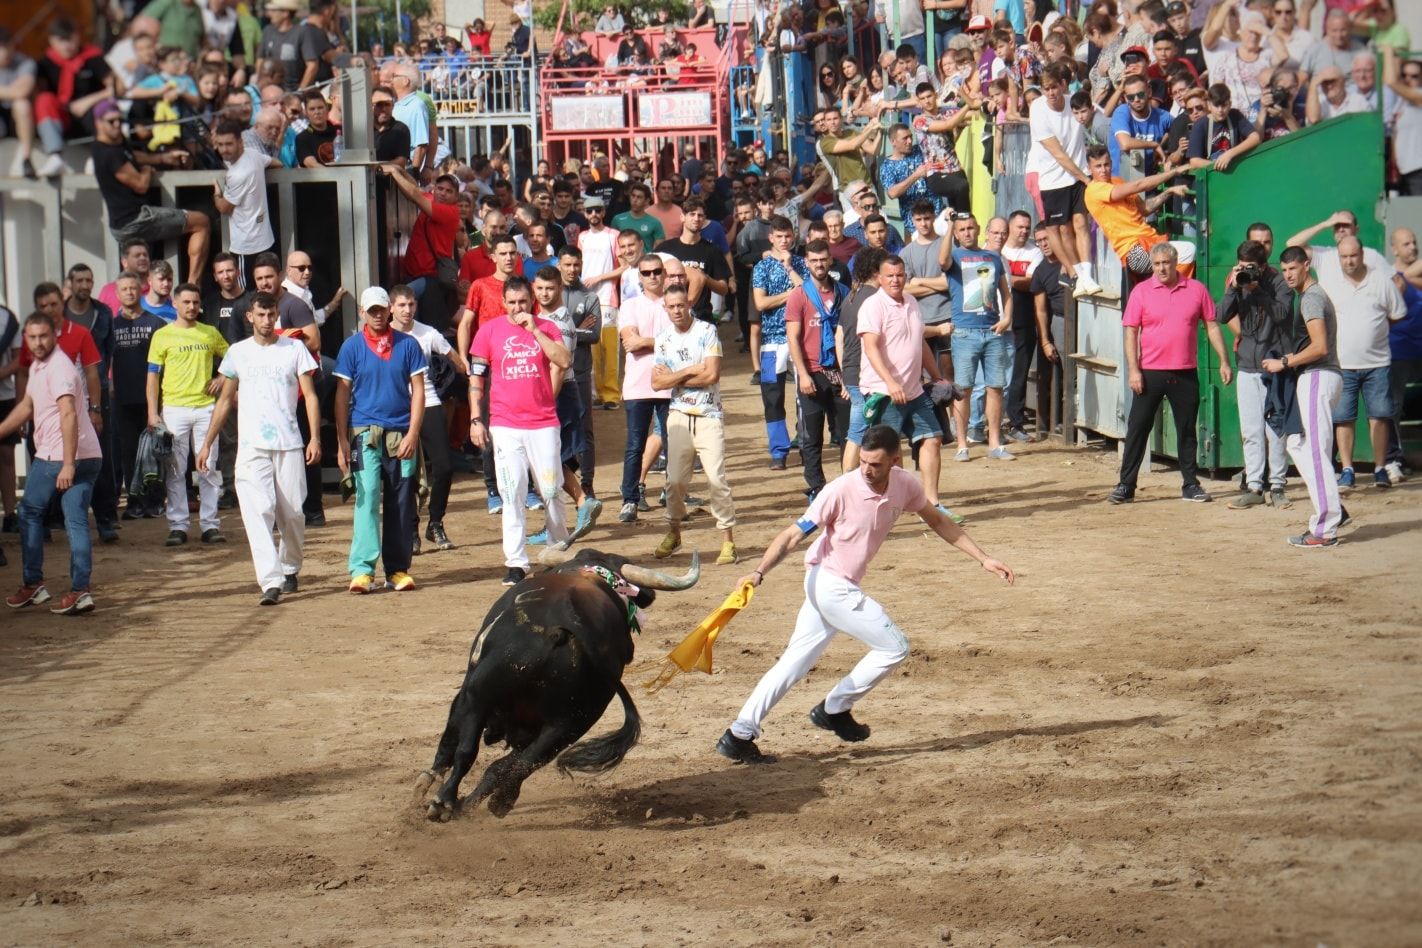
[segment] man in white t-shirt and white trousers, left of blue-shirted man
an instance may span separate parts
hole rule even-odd
[[[247,307],[252,338],[228,350],[218,372],[222,395],[198,452],[198,470],[209,469],[209,453],[223,422],[237,404],[237,458],[233,465],[242,526],[252,547],[252,564],[262,588],[262,605],[276,605],[282,593],[294,593],[306,540],[306,465],[321,459],[321,418],[316,398],[316,360],[299,340],[276,330],[277,300],[257,293]],[[242,389],[240,398],[237,389]],[[310,422],[311,439],[301,445],[296,424],[297,392]],[[280,547],[272,527],[282,534]]]

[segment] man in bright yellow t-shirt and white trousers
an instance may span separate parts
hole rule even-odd
[[[178,320],[154,333],[148,344],[148,426],[164,426],[173,436],[168,459],[168,540],[166,546],[188,542],[188,458],[208,438],[212,408],[222,392],[218,364],[228,351],[228,341],[215,327],[199,323],[202,290],[183,283],[173,290]],[[222,475],[216,459],[209,470],[198,470],[198,523],[203,543],[226,543],[218,530],[218,496]]]

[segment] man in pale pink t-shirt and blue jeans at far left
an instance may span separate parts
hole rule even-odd
[[[58,493],[70,539],[70,593],[50,611],[78,615],[94,610],[88,507],[102,453],[85,411],[84,378],[58,348],[50,317],[36,313],[24,321],[24,344],[31,357],[28,384],[10,415],[0,421],[3,441],[34,418],[34,460],[20,502],[23,576],[18,591],[6,598],[6,605],[20,608],[50,600],[44,588],[44,517]]]

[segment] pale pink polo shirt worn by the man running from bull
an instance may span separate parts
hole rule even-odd
[[[823,530],[805,551],[805,566],[823,566],[857,584],[899,515],[917,513],[927,503],[919,476],[903,468],[889,470],[883,493],[875,493],[859,470],[835,478],[799,520],[801,530]]]

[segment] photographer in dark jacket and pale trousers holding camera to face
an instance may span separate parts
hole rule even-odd
[[[1267,385],[1263,362],[1291,352],[1293,291],[1283,274],[1268,266],[1268,250],[1258,240],[1246,240],[1234,252],[1236,264],[1226,277],[1219,318],[1234,333],[1236,379],[1240,409],[1240,438],[1244,442],[1244,489],[1230,502],[1230,510],[1247,510],[1270,503],[1287,507],[1284,479],[1288,451],[1284,439],[1264,424]],[[1268,497],[1264,473],[1268,469]]]

